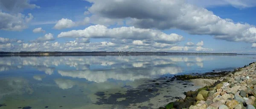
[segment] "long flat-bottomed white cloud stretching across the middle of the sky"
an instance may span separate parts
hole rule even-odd
[[[57,37],[84,37],[84,38],[116,38],[132,40],[154,40],[162,43],[177,43],[183,40],[178,34],[165,34],[153,29],[139,29],[135,27],[120,27],[108,29],[106,26],[89,26],[84,30],[61,32]]]

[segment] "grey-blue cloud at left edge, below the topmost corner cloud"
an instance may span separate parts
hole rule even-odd
[[[24,16],[21,13],[18,14],[8,14],[0,11],[0,29],[7,31],[21,31],[27,28],[27,23],[29,23],[33,16],[28,14]]]

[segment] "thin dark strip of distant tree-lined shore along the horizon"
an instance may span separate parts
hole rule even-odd
[[[0,52],[0,54],[228,54],[237,53],[201,53],[201,52]]]

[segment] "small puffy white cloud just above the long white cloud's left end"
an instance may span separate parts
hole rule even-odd
[[[89,17],[85,17],[84,20],[80,22],[73,22],[70,19],[62,18],[61,20],[58,20],[58,22],[55,24],[53,29],[67,29],[67,28],[72,28],[79,25],[86,25],[89,22],[90,22]]]

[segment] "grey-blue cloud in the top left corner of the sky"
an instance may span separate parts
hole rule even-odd
[[[35,4],[30,4],[29,0],[0,0],[0,9],[4,11],[20,12],[24,9],[40,8]]]

